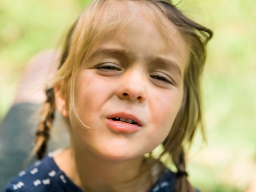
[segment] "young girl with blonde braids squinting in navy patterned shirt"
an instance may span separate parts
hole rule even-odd
[[[46,91],[34,147],[41,160],[4,191],[195,191],[184,146],[202,124],[211,37],[168,0],[92,2],[70,29]],[[70,147],[43,158],[55,109]]]

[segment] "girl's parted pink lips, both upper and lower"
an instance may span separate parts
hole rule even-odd
[[[122,121],[114,121],[112,118],[120,117],[120,118],[127,118],[131,119],[132,121],[136,121],[137,124],[130,124]],[[126,133],[133,133],[139,131],[141,129],[141,121],[132,114],[126,113],[115,113],[106,118],[107,126],[114,132],[126,132]]]

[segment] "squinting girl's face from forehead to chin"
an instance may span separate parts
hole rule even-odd
[[[73,146],[108,160],[135,159],[161,144],[183,98],[189,50],[174,25],[166,39],[140,14],[106,34],[78,69],[76,110],[70,107]]]

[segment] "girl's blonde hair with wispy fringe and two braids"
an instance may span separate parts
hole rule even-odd
[[[115,4],[110,4],[110,2],[115,2]],[[167,154],[177,167],[175,191],[192,192],[194,190],[186,178],[184,145],[191,144],[197,127],[201,127],[204,135],[200,81],[207,55],[206,45],[213,35],[211,30],[184,16],[168,0],[95,0],[71,27],[63,47],[59,69],[50,83],[54,87],[64,81],[65,86],[62,86],[62,93],[78,117],[74,101],[76,71],[91,53],[92,47],[104,37],[104,34],[121,29],[136,15],[138,10],[135,6],[130,6],[133,3],[140,4],[145,12],[154,18],[159,31],[167,37],[172,34],[164,28],[163,20],[174,24],[184,40],[182,43],[190,50],[190,63],[184,75],[182,106],[171,131],[162,143],[162,151],[155,156],[154,163]],[[54,110],[53,89],[48,89],[47,101],[36,133],[34,152],[38,159],[43,158],[45,154],[49,132],[54,120]]]

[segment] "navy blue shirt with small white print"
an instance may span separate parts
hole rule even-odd
[[[149,192],[172,192],[175,174],[164,170]],[[37,161],[9,181],[2,192],[83,192],[56,165],[50,156]]]

